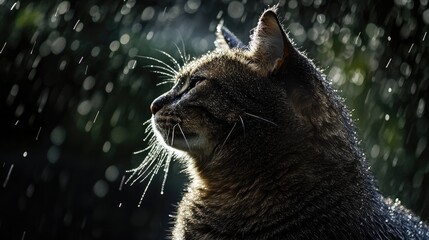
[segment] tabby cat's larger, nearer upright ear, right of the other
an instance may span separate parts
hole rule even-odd
[[[277,6],[265,10],[250,36],[250,51],[262,67],[270,73],[277,72],[295,51],[277,18]]]

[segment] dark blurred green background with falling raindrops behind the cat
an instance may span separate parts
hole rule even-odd
[[[0,239],[164,239],[185,174],[123,184],[169,85],[139,56],[244,42],[277,1],[0,0]],[[427,0],[279,2],[299,49],[353,109],[384,195],[429,219]],[[152,69],[153,70],[153,69]]]

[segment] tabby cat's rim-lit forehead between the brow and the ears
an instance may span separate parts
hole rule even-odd
[[[226,74],[230,71],[237,71],[246,68],[258,74],[258,67],[252,56],[240,49],[230,49],[228,51],[213,51],[204,54],[187,63],[179,72],[179,77],[189,77],[192,75],[204,75],[211,77],[216,74]]]

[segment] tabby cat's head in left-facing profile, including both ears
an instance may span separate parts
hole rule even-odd
[[[259,145],[344,138],[342,104],[314,65],[266,10],[248,46],[218,27],[216,49],[186,64],[151,105],[165,145],[199,159]],[[243,148],[243,149],[240,149]]]

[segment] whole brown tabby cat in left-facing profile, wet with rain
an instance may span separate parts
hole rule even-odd
[[[216,34],[150,107],[152,153],[178,155],[190,177],[173,239],[429,239],[379,193],[350,112],[276,6],[247,46]]]

